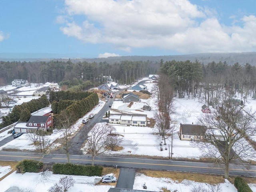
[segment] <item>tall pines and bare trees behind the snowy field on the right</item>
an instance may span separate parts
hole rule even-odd
[[[174,96],[204,99],[208,106],[216,106],[226,92],[233,96],[238,93],[238,99],[244,101],[248,96],[256,99],[256,67],[249,63],[228,65],[213,61],[204,65],[198,60],[161,60],[160,74],[168,77]]]

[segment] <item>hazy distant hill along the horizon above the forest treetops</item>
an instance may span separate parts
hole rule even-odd
[[[2,54],[1,54],[2,55]],[[10,55],[9,55],[10,56]],[[52,54],[52,58],[45,58],[42,54],[37,55],[38,58],[0,58],[1,61],[50,61],[50,60],[62,60],[67,61],[68,58],[63,57],[54,57]],[[200,53],[200,54],[188,54],[188,55],[166,55],[166,56],[118,56],[118,57],[108,57],[108,58],[70,58],[72,62],[107,62],[107,63],[115,63],[124,60],[130,61],[152,61],[159,62],[161,59],[164,61],[176,60],[176,61],[185,61],[190,60],[194,62],[195,60],[200,61],[203,64],[208,64],[209,62],[224,62],[226,61],[228,65],[232,65],[238,62],[241,65],[249,63],[251,65],[256,66],[256,52],[243,52],[243,53]]]

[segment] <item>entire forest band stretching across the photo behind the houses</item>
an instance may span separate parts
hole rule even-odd
[[[216,105],[226,91],[232,95],[239,93],[238,99],[244,101],[248,96],[256,98],[256,66],[249,63],[228,65],[226,61],[212,61],[202,64],[198,60],[162,59],[159,62],[126,60],[114,64],[71,60],[0,62],[0,86],[11,84],[13,79],[25,79],[32,83],[57,82],[68,88],[80,86],[75,91],[85,91],[108,82],[104,76],[111,76],[119,84],[132,84],[149,74],[168,76],[173,96],[203,98],[204,103],[211,106]]]

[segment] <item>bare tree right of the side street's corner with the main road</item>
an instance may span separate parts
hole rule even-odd
[[[84,150],[92,154],[92,166],[95,156],[104,153],[108,148],[108,137],[111,126],[107,124],[96,124],[89,132]]]

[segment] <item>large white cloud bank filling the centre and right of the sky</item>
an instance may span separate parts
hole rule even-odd
[[[160,48],[181,53],[256,51],[255,16],[221,25],[216,10],[188,0],[66,0],[60,30],[93,44],[120,50]],[[84,21],[76,16],[85,16]],[[81,17],[79,17],[81,19]]]

